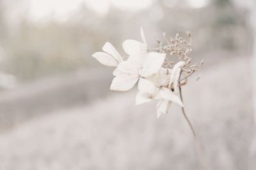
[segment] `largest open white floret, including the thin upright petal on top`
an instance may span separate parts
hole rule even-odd
[[[114,70],[113,75],[116,77],[110,86],[111,90],[128,91],[141,77],[150,77],[162,67],[166,54],[147,52],[147,42],[142,28],[141,39],[144,43],[136,40],[124,41],[123,47],[129,58]]]

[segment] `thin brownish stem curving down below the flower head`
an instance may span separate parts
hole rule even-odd
[[[180,81],[179,81],[179,84],[180,84]],[[180,100],[183,103],[181,86],[179,86],[179,92],[180,92]],[[195,129],[193,128],[193,125],[192,125],[191,121],[189,121],[189,118],[188,118],[188,116],[185,112],[184,107],[181,107],[181,109],[182,109],[183,116],[186,119],[186,121],[188,122],[188,125],[189,125],[189,127],[190,127],[190,129],[193,133],[193,137],[194,137],[195,143],[196,143],[196,148],[197,148],[197,151],[198,151],[198,154],[199,154],[199,157],[200,157],[200,162],[201,162],[201,164],[202,164],[202,166],[204,167],[205,170],[209,170],[209,166],[208,166],[207,162],[205,161],[204,152],[202,150],[201,144],[199,143],[199,140],[198,140],[198,137],[196,135]]]

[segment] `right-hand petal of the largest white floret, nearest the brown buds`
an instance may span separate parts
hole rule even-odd
[[[154,75],[155,73],[159,72],[160,68],[164,63],[165,56],[166,54],[161,54],[158,52],[148,53],[143,63],[141,76],[149,77],[150,75]]]

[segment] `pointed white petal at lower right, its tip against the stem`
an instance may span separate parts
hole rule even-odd
[[[175,95],[175,93],[173,93],[173,91],[171,91],[170,89],[161,88],[159,91],[159,95],[165,100],[168,100],[170,102],[175,102],[176,104],[179,104],[181,107],[183,107],[183,104],[180,98],[177,95]]]

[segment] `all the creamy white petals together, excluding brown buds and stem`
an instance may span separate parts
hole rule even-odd
[[[106,66],[116,66],[110,89],[129,91],[138,82],[136,105],[152,100],[157,103],[157,118],[166,114],[172,102],[183,107],[179,97],[179,77],[185,62],[179,61],[173,69],[164,68],[165,53],[149,52],[144,31],[141,27],[141,40],[125,40],[124,51],[128,54],[122,59],[115,47],[107,42],[102,47],[104,52],[95,52],[92,56]]]

